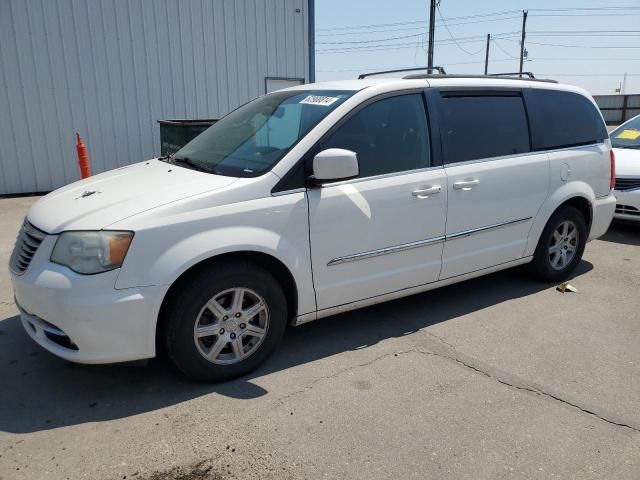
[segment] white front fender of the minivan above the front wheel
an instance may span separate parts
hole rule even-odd
[[[291,272],[298,291],[298,314],[315,311],[308,210],[304,194],[295,195],[299,198],[286,195],[180,213],[178,218],[163,218],[158,226],[140,222],[146,225],[135,232],[116,288],[171,285],[212,257],[258,252]]]

